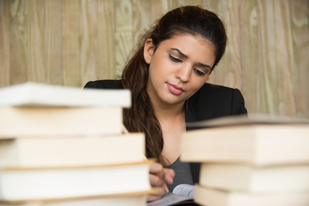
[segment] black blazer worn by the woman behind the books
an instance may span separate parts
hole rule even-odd
[[[84,88],[121,89],[121,80],[89,81]],[[238,89],[205,83],[186,102],[186,122],[208,120],[223,116],[247,114],[244,99]],[[187,127],[187,130],[194,128]],[[191,163],[194,183],[199,179],[199,163]]]

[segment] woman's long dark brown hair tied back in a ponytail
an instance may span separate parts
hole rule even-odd
[[[181,34],[192,34],[212,44],[216,57],[214,69],[223,56],[227,43],[223,22],[209,10],[198,6],[182,6],[167,12],[143,36],[121,76],[123,87],[130,89],[132,94],[132,107],[124,109],[124,125],[131,132],[145,133],[146,156],[155,158],[164,166],[169,163],[161,154],[162,130],[146,90],[149,65],[144,60],[144,44],[147,39],[152,38],[155,51],[162,41]]]

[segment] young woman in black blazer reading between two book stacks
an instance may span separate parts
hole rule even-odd
[[[132,107],[124,125],[146,134],[146,154],[159,164],[151,168],[158,199],[165,183],[171,191],[198,181],[199,164],[182,163],[181,134],[186,122],[246,114],[239,90],[205,83],[223,56],[227,35],[216,14],[198,6],[167,12],[147,32],[119,80],[88,82],[87,88],[128,88]],[[170,168],[172,170],[163,169]]]

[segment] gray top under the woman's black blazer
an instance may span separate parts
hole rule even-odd
[[[190,163],[183,163],[177,160],[172,163],[168,168],[171,168],[175,171],[174,182],[171,185],[167,185],[168,190],[173,192],[173,189],[179,184],[192,184],[193,185],[193,178],[191,173]]]

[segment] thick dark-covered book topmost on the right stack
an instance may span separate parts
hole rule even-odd
[[[227,118],[182,137],[184,162],[243,163],[255,166],[309,162],[309,122]],[[192,126],[192,124],[191,124]]]

